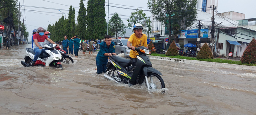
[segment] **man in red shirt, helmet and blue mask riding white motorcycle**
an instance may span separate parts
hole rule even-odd
[[[36,60],[38,59],[38,56],[42,53],[45,52],[45,49],[42,49],[42,46],[49,41],[50,43],[55,44],[48,36],[45,35],[45,29],[42,27],[39,27],[37,29],[38,34],[33,35],[34,39],[34,45],[33,45],[33,50],[35,52],[35,57],[33,61],[31,62],[31,65],[34,65]],[[58,44],[57,44],[58,45]]]

